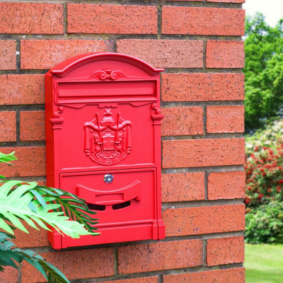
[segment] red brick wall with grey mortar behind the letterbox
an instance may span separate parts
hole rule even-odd
[[[18,156],[1,175],[45,183],[44,74],[55,64],[122,52],[165,68],[166,239],[58,252],[45,231],[30,229],[17,232],[18,246],[34,248],[74,282],[244,282],[243,1],[0,3],[0,150]],[[24,263],[0,282],[44,279]]]

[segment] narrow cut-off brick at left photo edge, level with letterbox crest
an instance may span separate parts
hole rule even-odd
[[[16,112],[0,112],[0,142],[16,141]]]

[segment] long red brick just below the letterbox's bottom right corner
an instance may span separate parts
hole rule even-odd
[[[122,246],[119,273],[149,272],[202,265],[202,241],[186,240]]]

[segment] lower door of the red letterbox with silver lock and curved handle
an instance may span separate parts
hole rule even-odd
[[[105,182],[105,175],[112,182]],[[86,199],[98,212],[99,225],[125,221],[152,221],[155,215],[156,168],[61,173],[60,187]],[[128,205],[115,209],[115,205]],[[94,208],[93,208],[94,207]]]

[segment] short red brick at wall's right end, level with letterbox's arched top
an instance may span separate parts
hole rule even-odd
[[[243,68],[243,41],[207,40],[207,68]]]

